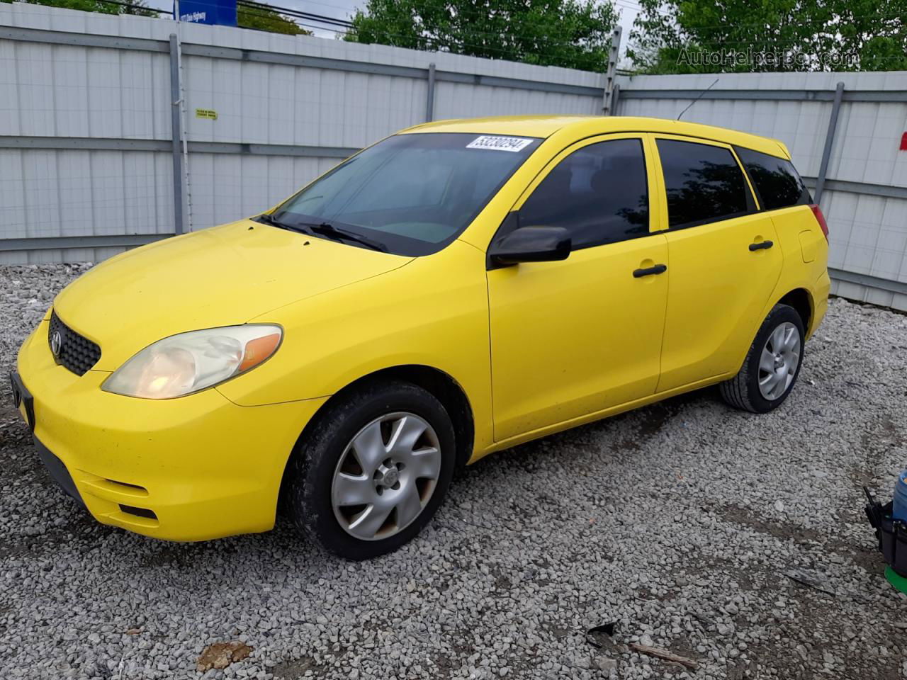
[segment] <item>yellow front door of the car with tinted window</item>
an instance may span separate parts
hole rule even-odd
[[[581,141],[514,207],[520,227],[567,228],[573,249],[560,262],[488,272],[496,441],[655,392],[668,299],[657,266],[668,246],[649,231],[649,144]]]

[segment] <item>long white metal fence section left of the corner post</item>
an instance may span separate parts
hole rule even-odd
[[[604,82],[449,53],[0,3],[0,263],[95,260],[255,214],[432,118],[600,113]]]

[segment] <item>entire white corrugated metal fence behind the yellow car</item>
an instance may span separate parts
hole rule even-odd
[[[254,214],[356,149],[433,118],[599,114],[606,82],[447,53],[0,3],[0,263],[96,260]],[[907,73],[616,83],[613,113],[676,118],[702,95],[683,120],[785,141],[811,186],[824,185],[815,193],[831,228],[834,292],[907,309]]]

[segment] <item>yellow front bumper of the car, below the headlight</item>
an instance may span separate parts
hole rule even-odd
[[[169,540],[274,526],[289,452],[324,398],[238,406],[216,389],[169,400],[106,393],[108,372],[55,364],[46,335],[44,321],[18,357],[30,424],[45,465],[54,474],[62,464],[96,520]]]

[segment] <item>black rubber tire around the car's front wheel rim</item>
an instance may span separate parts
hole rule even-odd
[[[441,470],[434,491],[416,518],[385,539],[359,539],[344,529],[331,501],[332,484],[346,446],[368,423],[388,413],[408,412],[429,423],[437,435]],[[309,539],[346,559],[370,559],[400,548],[431,520],[444,500],[456,460],[453,424],[433,394],[403,382],[365,384],[341,395],[318,414],[300,437],[288,462],[286,510]]]

